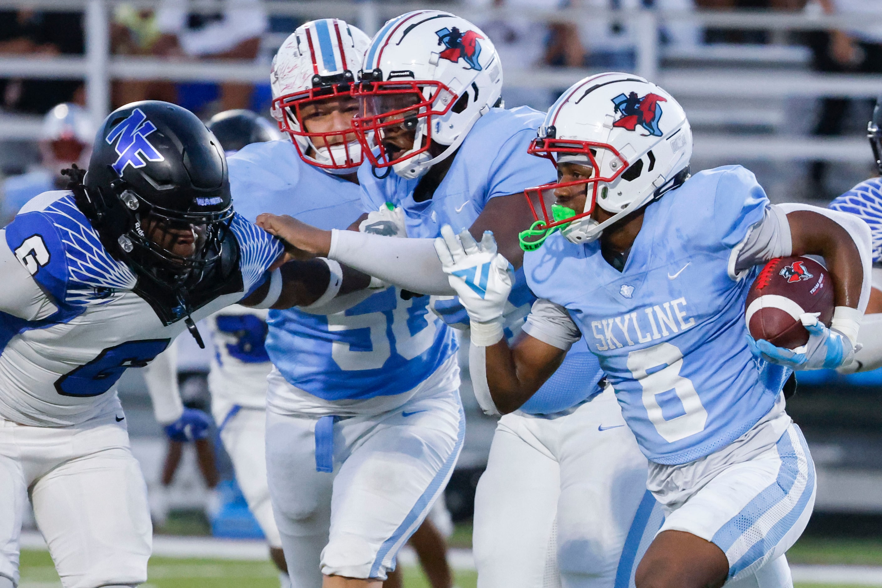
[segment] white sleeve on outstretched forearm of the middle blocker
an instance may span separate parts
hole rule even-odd
[[[328,258],[419,294],[454,296],[434,239],[401,239],[333,229]]]

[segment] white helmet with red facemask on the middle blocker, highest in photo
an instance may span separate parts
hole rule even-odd
[[[371,164],[416,178],[456,151],[475,121],[500,103],[502,64],[487,35],[466,19],[407,12],[370,41],[353,93],[361,100],[353,126]],[[392,128],[415,138],[390,159],[383,137]],[[435,158],[432,141],[447,145]]]

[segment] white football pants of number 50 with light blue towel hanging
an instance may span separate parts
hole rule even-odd
[[[270,495],[292,586],[321,588],[323,574],[385,580],[394,569],[460,455],[459,374],[448,361],[430,376],[438,385],[402,406],[323,417],[331,427],[315,416],[266,411]],[[333,472],[317,470],[325,464],[317,445]]]

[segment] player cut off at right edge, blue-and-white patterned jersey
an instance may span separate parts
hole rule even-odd
[[[830,203],[834,211],[850,212],[862,218],[870,226],[873,246],[870,301],[857,335],[863,347],[856,351],[855,361],[838,369],[841,374],[882,368],[882,267],[879,266],[882,263],[882,100],[873,108],[867,138],[879,176],[860,182]]]

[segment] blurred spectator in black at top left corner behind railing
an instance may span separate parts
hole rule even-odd
[[[56,56],[83,53],[83,17],[78,12],[28,9],[0,11],[0,54]],[[0,80],[0,106],[42,114],[60,101],[83,104],[78,80]]]

